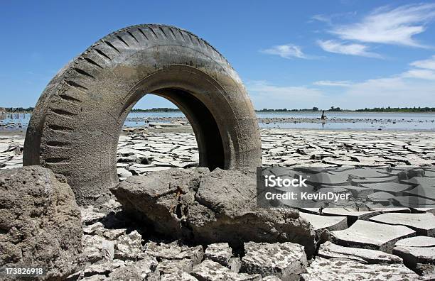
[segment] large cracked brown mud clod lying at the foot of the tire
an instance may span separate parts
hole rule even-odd
[[[299,211],[257,207],[254,174],[174,168],[129,177],[111,190],[127,214],[172,238],[239,247],[243,241],[290,241],[301,243],[308,256],[315,250],[315,233]]]

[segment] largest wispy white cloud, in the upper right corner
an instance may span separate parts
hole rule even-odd
[[[435,4],[411,4],[396,9],[382,7],[365,16],[360,23],[338,26],[331,33],[343,40],[424,47],[414,35],[426,30],[435,18]]]

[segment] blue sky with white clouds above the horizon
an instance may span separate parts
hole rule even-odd
[[[34,106],[55,73],[119,28],[208,40],[256,109],[435,107],[435,1],[8,1],[0,106]],[[146,96],[136,107],[171,106]]]

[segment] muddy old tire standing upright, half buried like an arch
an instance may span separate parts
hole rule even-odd
[[[119,134],[146,93],[186,115],[200,166],[261,165],[257,118],[235,70],[205,40],[156,24],[105,36],[55,75],[29,123],[23,164],[65,175],[79,204],[95,202],[118,182]]]

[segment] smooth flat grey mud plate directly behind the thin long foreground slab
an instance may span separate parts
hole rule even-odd
[[[341,246],[382,250],[391,253],[394,243],[402,238],[415,236],[406,226],[389,226],[372,221],[356,221],[343,231],[332,231],[332,241]]]

